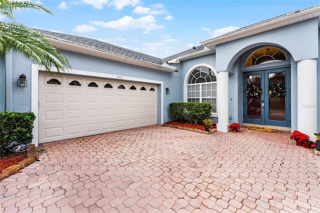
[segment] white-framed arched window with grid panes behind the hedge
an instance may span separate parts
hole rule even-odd
[[[216,77],[210,68],[199,66],[192,70],[186,86],[188,102],[209,102],[211,112],[216,113]]]

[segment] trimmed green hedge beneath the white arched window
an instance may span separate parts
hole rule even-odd
[[[169,103],[171,116],[179,121],[190,121],[191,123],[201,123],[203,119],[211,115],[211,103],[198,102],[172,102]]]

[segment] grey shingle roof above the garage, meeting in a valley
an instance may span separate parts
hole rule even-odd
[[[197,46],[194,49],[188,49],[185,51],[182,51],[180,53],[165,57],[163,59],[158,58],[158,57],[154,57],[148,54],[144,54],[141,52],[137,52],[137,51],[133,51],[131,49],[127,49],[127,48],[123,48],[120,46],[116,46],[107,42],[103,42],[97,39],[92,39],[92,38],[86,38],[86,37],[80,37],[80,36],[75,36],[75,35],[69,35],[69,34],[63,34],[63,33],[59,33],[59,32],[52,32],[52,31],[46,31],[46,30],[40,30],[40,29],[35,29],[36,31],[46,35],[46,36],[50,36],[50,37],[54,37],[54,38],[58,38],[58,39],[62,39],[62,40],[66,40],[69,42],[73,42],[73,43],[77,43],[77,44],[81,44],[84,46],[90,46],[96,49],[102,49],[102,50],[106,50],[109,52],[114,52],[120,55],[125,55],[128,57],[132,57],[132,58],[136,58],[136,59],[141,59],[144,61],[148,61],[151,63],[155,63],[155,64],[163,64],[166,61],[173,59],[177,56],[181,56],[183,54],[186,53],[190,53],[190,52],[195,52],[198,51],[200,49],[203,49],[203,46]]]

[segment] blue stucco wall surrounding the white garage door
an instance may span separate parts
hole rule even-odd
[[[181,101],[181,85],[180,81],[178,80],[180,78],[179,72],[170,73],[160,70],[153,70],[141,66],[125,64],[63,50],[61,50],[61,53],[68,59],[72,69],[163,81],[163,122],[172,120],[172,117],[169,114],[168,105],[170,102]],[[23,55],[18,52],[13,53],[13,61],[13,111],[29,111],[31,110],[31,61],[26,60]],[[26,79],[28,80],[27,87],[16,86],[16,80],[22,73],[26,75]],[[166,87],[169,87],[170,94],[165,94]],[[159,86],[158,89],[160,89]],[[161,124],[160,94],[160,90],[158,90],[158,124]]]

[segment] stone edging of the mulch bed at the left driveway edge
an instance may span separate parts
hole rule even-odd
[[[4,168],[0,173],[0,180],[10,176],[11,174],[16,173],[18,170],[26,167],[27,165],[30,165],[31,163],[39,159],[39,155],[36,151],[35,145],[29,144],[27,146],[31,146],[31,148],[27,150],[27,158],[21,160],[17,164]]]

